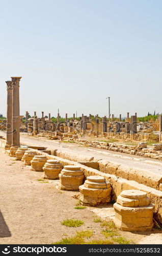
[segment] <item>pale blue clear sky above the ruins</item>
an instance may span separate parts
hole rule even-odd
[[[162,112],[161,0],[6,0],[0,9],[0,113],[22,76],[20,115]]]

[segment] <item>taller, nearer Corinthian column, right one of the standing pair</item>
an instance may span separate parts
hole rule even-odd
[[[20,104],[19,104],[19,82],[21,77],[12,79],[12,146],[10,156],[14,157],[17,148],[20,147]]]

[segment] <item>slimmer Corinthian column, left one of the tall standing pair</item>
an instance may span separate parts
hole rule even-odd
[[[12,81],[7,83],[7,131],[5,150],[10,150],[12,144]]]

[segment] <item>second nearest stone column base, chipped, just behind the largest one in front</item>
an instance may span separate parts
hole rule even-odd
[[[111,200],[111,184],[101,176],[89,176],[84,185],[79,186],[82,204],[95,206],[109,203]]]

